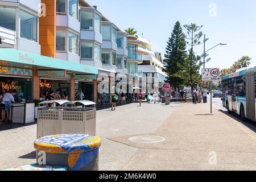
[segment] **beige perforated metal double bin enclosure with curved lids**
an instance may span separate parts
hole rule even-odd
[[[44,101],[39,105],[52,105],[58,107],[46,107],[38,109],[37,138],[56,134],[89,134],[96,135],[96,108],[92,101]],[[77,104],[80,106],[76,106]],[[72,105],[64,107],[64,104]]]

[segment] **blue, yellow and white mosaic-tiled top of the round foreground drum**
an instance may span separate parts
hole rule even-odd
[[[101,139],[86,134],[61,134],[42,137],[34,142],[37,151],[47,154],[80,154],[96,150],[101,146]]]

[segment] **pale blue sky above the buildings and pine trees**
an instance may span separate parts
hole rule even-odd
[[[204,25],[201,29],[209,38],[207,49],[212,60],[206,67],[229,68],[241,56],[250,56],[256,65],[256,1],[255,0],[86,0],[121,30],[134,27],[153,49],[165,52],[166,42],[177,20],[181,24]],[[209,5],[214,3],[214,7]],[[210,16],[209,15],[216,15]],[[185,31],[185,30],[184,30]],[[203,46],[195,52],[203,53]]]

